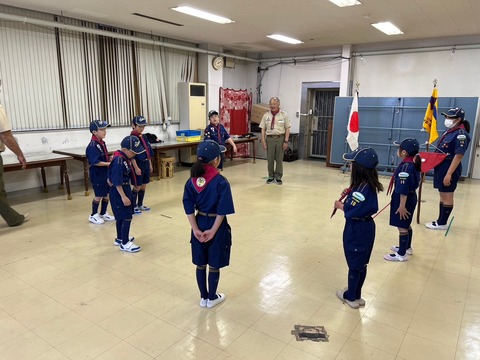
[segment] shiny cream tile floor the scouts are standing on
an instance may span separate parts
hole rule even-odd
[[[181,198],[188,169],[154,181],[134,217],[137,254],[113,245],[114,223],[88,222],[80,183],[11,198],[29,220],[0,224],[0,358],[19,359],[480,359],[480,182],[456,193],[443,231],[414,225],[414,255],[383,260],[396,244],[388,209],[364,287],[365,308],[342,304],[343,213],[330,219],[348,175],[322,162],[285,164],[284,184],[266,185],[266,162],[235,160],[223,175],[236,214],[234,245],[221,272],[227,299],[198,306],[189,225]],[[384,185],[388,179],[382,178]],[[423,188],[421,222],[438,195]],[[388,203],[379,195],[380,207]],[[324,326],[329,342],[296,341],[294,325]]]

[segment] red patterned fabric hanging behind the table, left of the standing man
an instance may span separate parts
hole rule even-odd
[[[220,88],[220,122],[230,136],[248,133],[252,109],[252,93],[247,90]],[[250,156],[250,144],[238,144],[237,156]]]

